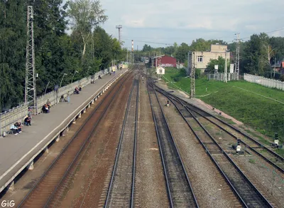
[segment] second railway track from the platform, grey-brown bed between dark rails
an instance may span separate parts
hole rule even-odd
[[[134,78],[104,207],[133,207],[139,80]]]

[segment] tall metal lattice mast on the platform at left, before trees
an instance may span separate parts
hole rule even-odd
[[[35,83],[35,47],[33,40],[33,6],[28,6],[27,12],[27,44],[26,44],[26,86],[25,103],[33,102],[34,114],[36,108],[36,83]]]

